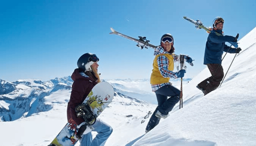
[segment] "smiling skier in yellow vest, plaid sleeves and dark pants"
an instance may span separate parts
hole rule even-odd
[[[173,36],[164,34],[161,37],[161,46],[155,49],[155,59],[153,61],[153,70],[150,77],[152,91],[155,92],[158,101],[158,107],[151,116],[146,132],[153,129],[161,118],[166,118],[174,105],[180,100],[180,90],[172,86],[170,78],[184,77],[184,69],[173,72],[174,62],[179,58],[173,54]],[[191,63],[192,58],[185,56],[187,62]],[[170,97],[168,99],[168,97]]]

